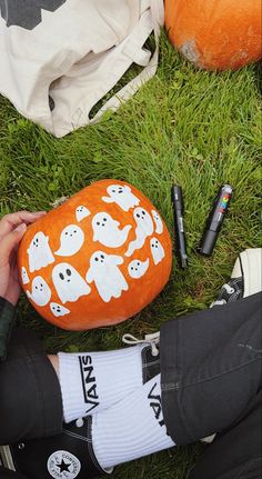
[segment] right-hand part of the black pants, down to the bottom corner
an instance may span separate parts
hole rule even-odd
[[[162,406],[175,443],[218,432],[190,479],[262,478],[262,293],[161,328]]]

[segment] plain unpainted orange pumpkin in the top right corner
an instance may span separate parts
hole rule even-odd
[[[210,70],[235,70],[261,59],[261,0],[165,0],[171,42]]]

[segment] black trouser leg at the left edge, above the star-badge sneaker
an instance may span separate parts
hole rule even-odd
[[[16,328],[0,363],[0,443],[62,430],[58,377],[32,331]]]

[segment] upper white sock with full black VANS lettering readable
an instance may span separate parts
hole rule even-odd
[[[59,352],[59,379],[66,422],[109,408],[143,383],[138,345],[114,351]]]

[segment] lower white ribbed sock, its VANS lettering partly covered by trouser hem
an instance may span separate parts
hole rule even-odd
[[[102,468],[174,446],[163,421],[160,375],[92,417],[92,445]]]

